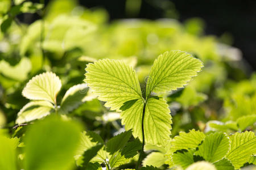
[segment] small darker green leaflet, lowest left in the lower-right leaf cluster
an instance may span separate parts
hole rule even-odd
[[[194,163],[192,150],[179,150],[172,155],[172,162],[175,165],[180,165],[182,168],[187,168]]]

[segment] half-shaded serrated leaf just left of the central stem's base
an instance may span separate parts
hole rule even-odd
[[[119,165],[123,165],[129,163],[131,158],[138,154],[138,150],[141,149],[141,142],[135,140],[133,142],[128,142],[127,145],[115,152],[111,158],[109,159],[109,164],[111,167],[119,167]]]

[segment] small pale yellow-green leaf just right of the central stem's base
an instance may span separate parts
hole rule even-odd
[[[152,152],[151,154],[147,155],[147,157],[143,160],[142,164],[144,167],[146,167],[146,165],[152,165],[153,167],[161,167],[165,161],[166,158],[164,157],[163,153]]]

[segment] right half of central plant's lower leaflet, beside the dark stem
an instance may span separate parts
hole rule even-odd
[[[171,111],[162,98],[147,100],[144,114],[145,141],[153,145],[165,146],[171,135]],[[141,135],[139,135],[139,138]],[[142,139],[142,138],[141,138]]]

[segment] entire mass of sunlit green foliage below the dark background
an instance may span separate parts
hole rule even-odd
[[[255,73],[201,23],[1,1],[0,169],[250,168]]]

